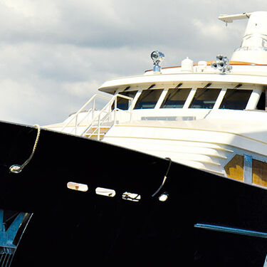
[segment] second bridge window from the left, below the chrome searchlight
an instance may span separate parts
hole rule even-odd
[[[135,104],[135,110],[140,108],[155,108],[163,89],[143,90]]]

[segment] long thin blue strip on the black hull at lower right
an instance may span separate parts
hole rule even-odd
[[[263,239],[267,239],[267,233],[258,231],[244,230],[239,228],[232,228],[232,227],[225,227],[225,226],[211,225],[211,224],[195,224],[194,227],[211,231],[220,231],[231,234],[242,234],[244,236],[256,236],[256,237],[261,237]]]

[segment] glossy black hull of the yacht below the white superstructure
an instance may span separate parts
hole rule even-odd
[[[41,130],[22,172],[9,172],[31,155],[36,132],[0,123],[0,209],[33,214],[18,231],[11,266],[264,265],[266,190],[49,130]],[[68,182],[87,184],[88,192]],[[95,194],[97,187],[116,195]],[[124,192],[140,201],[122,199]],[[164,192],[169,198],[159,201]],[[12,214],[0,225],[4,233]],[[0,233],[0,248],[1,240]]]

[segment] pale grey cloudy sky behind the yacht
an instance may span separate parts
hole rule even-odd
[[[48,125],[78,110],[110,78],[231,58],[265,0],[0,0],[0,120]]]

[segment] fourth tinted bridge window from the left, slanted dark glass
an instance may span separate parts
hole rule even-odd
[[[221,89],[199,88],[189,108],[213,108]]]

